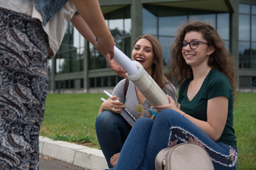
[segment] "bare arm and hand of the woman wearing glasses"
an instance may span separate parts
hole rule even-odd
[[[223,133],[225,123],[228,118],[227,97],[219,96],[208,100],[207,121],[198,120],[196,118],[193,118],[191,115],[184,113],[179,109],[180,104],[178,104],[178,107],[176,107],[174,100],[170,96],[167,97],[169,98],[170,103],[168,105],[154,106],[154,110],[156,110],[156,112],[159,113],[160,111],[163,111],[166,108],[173,109],[174,111],[181,113],[181,115],[186,117],[188,120],[191,120],[191,122],[197,125],[198,128],[203,130],[203,132],[206,132],[206,134],[213,141],[216,142],[220,138],[220,135]]]

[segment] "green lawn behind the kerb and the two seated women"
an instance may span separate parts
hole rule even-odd
[[[100,148],[95,120],[105,94],[48,94],[40,135],[53,140],[92,142]],[[234,109],[238,170],[256,169],[256,94],[240,93]]]

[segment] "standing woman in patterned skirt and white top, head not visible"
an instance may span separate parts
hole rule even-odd
[[[0,169],[39,169],[48,55],[58,51],[68,21],[109,62],[114,39],[97,0],[9,0],[0,6]]]

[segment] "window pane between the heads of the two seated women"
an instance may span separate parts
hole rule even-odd
[[[163,57],[164,57],[164,65],[169,64],[170,53],[171,53],[171,45],[174,42],[175,38],[170,37],[159,37],[159,41],[163,47]]]

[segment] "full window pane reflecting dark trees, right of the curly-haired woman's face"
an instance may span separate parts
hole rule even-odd
[[[250,68],[250,42],[239,42],[239,67]]]

